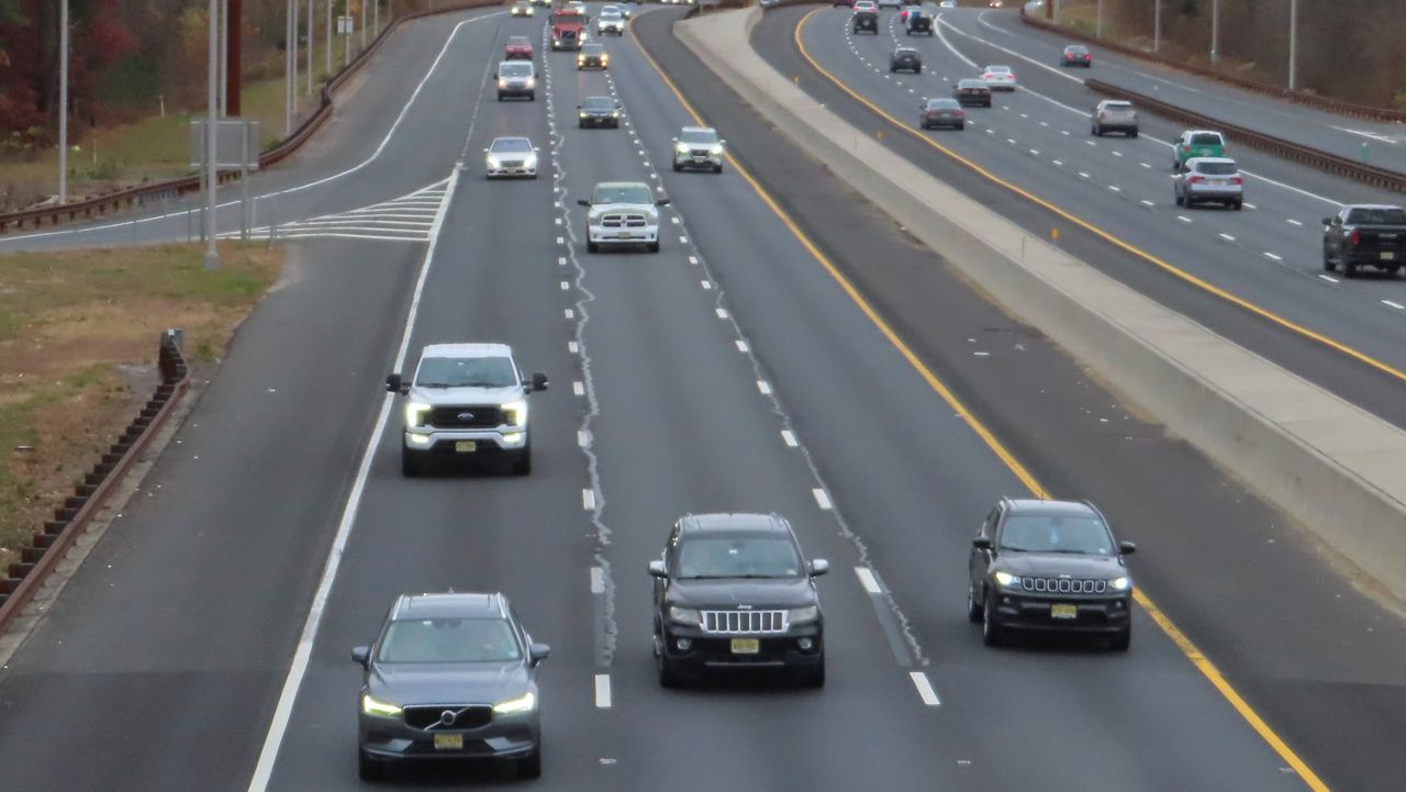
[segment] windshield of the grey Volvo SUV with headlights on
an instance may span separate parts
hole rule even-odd
[[[402,619],[381,641],[381,663],[508,663],[522,657],[502,619]]]

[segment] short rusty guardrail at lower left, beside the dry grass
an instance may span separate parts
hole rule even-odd
[[[10,564],[6,577],[0,578],[0,634],[34,599],[35,591],[44,585],[45,578],[63,560],[73,542],[121,485],[122,478],[150,446],[152,439],[176,409],[176,402],[190,387],[190,370],[180,353],[180,331],[162,333],[157,366],[162,384],[156,387],[141,414],[75,487],[73,495],[65,498],[63,505],[53,511],[53,519],[45,520],[44,530],[32,536],[28,547],[20,550],[20,561]]]

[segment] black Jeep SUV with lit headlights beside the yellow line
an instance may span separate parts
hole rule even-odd
[[[1091,504],[1002,499],[972,540],[967,618],[987,646],[1007,632],[1060,630],[1132,640],[1133,578],[1108,520]]]

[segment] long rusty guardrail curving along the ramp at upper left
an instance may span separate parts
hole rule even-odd
[[[429,17],[434,14],[447,14],[453,11],[465,11],[470,8],[482,8],[486,6],[498,6],[499,0],[467,0],[463,3],[456,3],[446,6],[443,8],[429,8],[425,11],[415,11],[411,14],[399,15],[385,28],[381,34],[361,52],[352,59],[350,63],[343,66],[333,75],[323,86],[319,96],[319,104],[316,113],[308,117],[292,135],[287,139],[269,149],[267,152],[259,155],[259,167],[271,167],[290,156],[292,156],[304,143],[307,143],[312,135],[322,128],[332,113],[335,111],[335,103],[332,94],[361,68],[380,48],[381,44],[391,35],[395,28],[408,20],[419,20],[422,17]],[[224,184],[226,181],[233,181],[239,177],[239,172],[229,170],[217,174],[217,183]],[[129,207],[139,207],[149,201],[160,201],[172,198],[176,196],[183,196],[186,193],[193,193],[200,189],[200,176],[183,176],[180,179],[170,179],[166,181],[156,181],[152,184],[142,184],[141,187],[128,187],[125,190],[117,190],[105,196],[97,196],[86,201],[76,201],[72,204],[63,204],[60,207],[42,207],[35,210],[24,210],[18,212],[0,214],[0,234],[7,234],[13,229],[24,228],[42,228],[45,224],[58,225],[60,222],[70,222],[75,219],[91,218],[111,211],[118,211]]]

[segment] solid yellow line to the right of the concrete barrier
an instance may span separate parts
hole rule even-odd
[[[1234,305],[1237,305],[1240,308],[1244,308],[1246,311],[1250,311],[1251,314],[1254,314],[1254,315],[1257,315],[1260,318],[1268,319],[1268,321],[1271,321],[1271,322],[1274,322],[1274,324],[1277,324],[1277,325],[1279,325],[1279,326],[1282,326],[1285,329],[1294,331],[1294,332],[1296,332],[1296,333],[1299,333],[1299,335],[1302,335],[1302,336],[1305,336],[1308,339],[1316,340],[1316,342],[1319,342],[1319,343],[1322,343],[1324,346],[1329,346],[1329,347],[1331,347],[1331,349],[1334,349],[1337,352],[1341,352],[1343,355],[1347,355],[1348,357],[1353,357],[1353,359],[1355,359],[1360,363],[1365,363],[1365,364],[1371,366],[1372,369],[1376,369],[1378,371],[1391,374],[1392,377],[1396,377],[1398,380],[1406,381],[1406,371],[1395,369],[1389,363],[1384,363],[1384,362],[1381,362],[1381,360],[1378,360],[1378,359],[1375,359],[1371,355],[1367,355],[1364,352],[1358,352],[1357,349],[1353,349],[1351,346],[1347,346],[1343,342],[1334,340],[1334,339],[1331,339],[1331,338],[1329,338],[1329,336],[1326,336],[1326,335],[1323,335],[1323,333],[1320,333],[1317,331],[1309,329],[1309,328],[1306,328],[1303,325],[1299,325],[1298,322],[1294,322],[1291,319],[1285,319],[1284,317],[1279,317],[1278,314],[1275,314],[1275,312],[1272,312],[1272,311],[1270,311],[1267,308],[1261,308],[1261,307],[1256,305],[1254,302],[1250,302],[1249,300],[1246,300],[1243,297],[1232,294],[1232,293],[1220,288],[1219,286],[1215,286],[1211,281],[1202,280],[1201,277],[1194,276],[1194,274],[1188,273],[1187,270],[1182,270],[1181,267],[1177,267],[1175,264],[1173,264],[1173,263],[1170,263],[1170,262],[1167,262],[1164,259],[1160,259],[1160,257],[1157,257],[1157,256],[1154,256],[1154,255],[1143,250],[1142,248],[1136,248],[1136,246],[1133,246],[1133,245],[1130,245],[1128,242],[1123,242],[1122,239],[1119,239],[1118,236],[1114,236],[1112,234],[1104,231],[1102,228],[1098,228],[1097,225],[1094,225],[1094,224],[1091,224],[1091,222],[1088,222],[1088,221],[1085,221],[1085,219],[1083,219],[1083,218],[1080,218],[1077,215],[1073,215],[1073,214],[1064,211],[1063,208],[1060,208],[1060,207],[1057,207],[1057,205],[1046,201],[1045,198],[1040,198],[1039,196],[1028,193],[1022,187],[1019,187],[1017,184],[1012,184],[1012,183],[1004,180],[1004,179],[1001,179],[1000,176],[991,173],[990,170],[981,167],[980,165],[972,162],[970,159],[966,159],[965,156],[962,156],[962,155],[956,153],[955,151],[943,146],[942,143],[935,142],[932,138],[929,138],[929,136],[918,132],[912,127],[910,127],[910,125],[898,121],[891,114],[889,114],[886,110],[880,108],[879,106],[873,104],[868,98],[865,98],[865,97],[859,96],[858,93],[855,93],[853,89],[851,89],[842,80],[839,80],[838,77],[835,77],[834,75],[831,75],[830,72],[827,72],[824,66],[821,66],[820,63],[817,63],[815,59],[810,56],[810,51],[806,49],[806,45],[800,39],[800,31],[801,31],[803,27],[806,27],[806,23],[810,20],[810,17],[813,17],[818,11],[820,11],[820,8],[815,8],[811,13],[806,14],[801,18],[800,24],[796,25],[796,46],[800,49],[801,58],[804,58],[810,63],[810,66],[813,69],[815,69],[817,72],[820,72],[821,75],[824,75],[825,79],[828,79],[831,83],[834,83],[839,90],[845,91],[852,98],[855,98],[856,101],[859,101],[860,104],[863,104],[865,107],[868,107],[869,110],[872,110],[873,113],[879,114],[880,117],[883,117],[886,121],[889,121],[894,127],[903,129],[904,132],[912,135],[915,139],[922,141],[928,146],[931,146],[931,148],[942,152],[943,155],[946,155],[946,156],[955,159],[956,162],[960,162],[962,165],[970,167],[972,170],[980,173],[981,176],[984,176],[990,181],[993,181],[993,183],[995,183],[995,184],[998,184],[1001,187],[1005,187],[1007,190],[1010,190],[1010,191],[1015,193],[1017,196],[1021,196],[1022,198],[1025,198],[1025,200],[1028,200],[1028,201],[1039,205],[1040,208],[1043,208],[1046,211],[1050,211],[1050,212],[1062,217],[1063,219],[1066,219],[1066,221],[1069,221],[1069,222],[1071,222],[1071,224],[1083,228],[1084,231],[1088,231],[1090,234],[1098,236],[1099,239],[1102,239],[1102,241],[1105,241],[1105,242],[1108,242],[1108,243],[1111,243],[1111,245],[1114,245],[1116,248],[1121,248],[1121,249],[1132,253],[1133,256],[1137,256],[1139,259],[1143,259],[1144,262],[1156,264],[1161,270],[1164,270],[1164,272],[1167,272],[1167,273],[1170,273],[1170,274],[1173,274],[1173,276],[1175,276],[1175,277],[1178,277],[1178,279],[1181,279],[1181,280],[1184,280],[1184,281],[1195,286],[1197,288],[1208,291],[1208,293],[1211,293],[1211,294],[1213,294],[1213,295],[1216,295],[1216,297],[1219,297],[1219,298],[1222,298],[1222,300],[1225,300],[1227,302],[1232,302],[1232,304],[1234,304]]]

